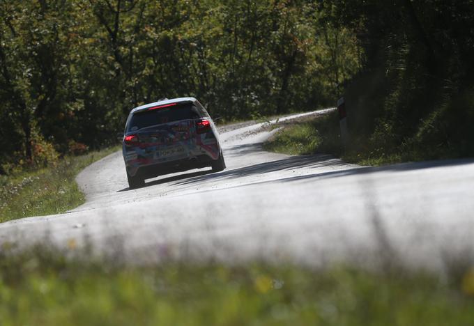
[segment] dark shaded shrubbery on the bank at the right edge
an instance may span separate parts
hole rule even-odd
[[[474,1],[346,1],[339,10],[367,58],[346,88],[353,147],[402,160],[472,157]]]

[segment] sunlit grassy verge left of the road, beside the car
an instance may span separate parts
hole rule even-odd
[[[66,156],[56,164],[13,176],[0,176],[0,222],[21,217],[66,212],[84,203],[75,176],[86,166],[119,147],[81,156]]]

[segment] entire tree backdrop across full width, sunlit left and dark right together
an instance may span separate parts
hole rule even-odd
[[[367,150],[474,153],[473,0],[1,1],[0,17],[0,173],[38,161],[35,137],[107,145],[132,107],[183,95],[229,120],[345,94]]]

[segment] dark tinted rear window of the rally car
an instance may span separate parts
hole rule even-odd
[[[144,110],[133,114],[128,124],[128,131],[135,131],[152,125],[170,123],[174,121],[199,118],[197,109],[192,103],[178,104],[162,109]]]

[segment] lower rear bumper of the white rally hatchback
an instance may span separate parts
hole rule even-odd
[[[199,155],[193,158],[185,158],[138,167],[127,166],[127,171],[130,176],[139,176],[147,179],[169,173],[204,168],[206,166],[211,166],[212,162],[212,157],[209,157],[208,155]]]

